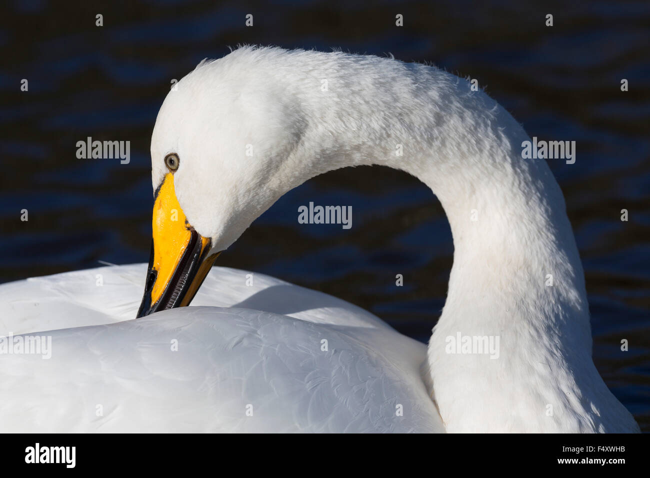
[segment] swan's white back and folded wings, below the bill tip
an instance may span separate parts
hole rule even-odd
[[[420,377],[426,347],[365,310],[214,267],[198,307],[134,320],[145,270],[0,285],[0,334],[52,344],[49,359],[1,357],[0,431],[444,431]]]

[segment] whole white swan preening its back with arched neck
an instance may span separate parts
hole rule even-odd
[[[253,291],[244,271],[207,275],[194,304],[211,307],[131,321],[142,266],[61,274],[0,287],[5,332],[64,328],[49,333],[50,360],[0,357],[0,426],[638,431],[591,360],[564,198],[544,160],[522,159],[525,140],[495,101],[430,66],[252,47],[201,62],[168,94],[151,139],[154,247],[138,316],[187,305],[216,254],[293,187],[382,164],[430,186],[454,238],[428,354],[332,297],[266,277]],[[49,310],[65,297],[73,312],[46,322],[28,303],[44,291]],[[78,325],[93,326],[66,328]],[[456,349],[458,336],[498,338],[498,358]]]

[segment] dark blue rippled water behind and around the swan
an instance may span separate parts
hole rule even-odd
[[[0,280],[148,260],[151,129],[170,81],[201,59],[250,43],[433,62],[487,85],[531,136],[577,142],[575,165],[551,168],[584,263],[595,363],[650,431],[650,3],[566,4],[4,2]],[[248,13],[253,27],[244,26]],[[75,144],[88,136],[131,141],[131,163],[77,159]],[[352,229],[298,224],[309,201],[352,206]],[[430,191],[376,166],[291,191],[218,263],[325,291],[426,341],[452,253]]]

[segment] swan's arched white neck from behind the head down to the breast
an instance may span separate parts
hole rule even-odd
[[[300,118],[284,171],[291,186],[343,166],[387,165],[421,179],[447,213],[454,265],[424,380],[448,431],[633,430],[591,360],[564,198],[543,159],[522,158],[523,128],[435,68],[307,55],[317,58],[273,73],[292,78],[278,89]],[[457,337],[495,339],[499,350],[465,353],[449,347]]]

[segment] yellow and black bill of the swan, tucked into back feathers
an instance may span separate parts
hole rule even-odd
[[[187,221],[166,174],[153,204],[151,255],[142,303],[136,318],[187,306],[220,254],[210,254],[211,240]]]

